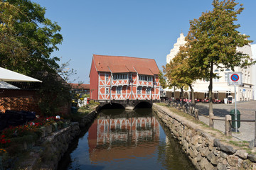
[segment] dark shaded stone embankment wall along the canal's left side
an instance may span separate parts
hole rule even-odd
[[[67,128],[53,132],[46,137],[39,151],[31,152],[26,162],[23,162],[22,169],[47,169],[53,170],[58,168],[58,162],[63,154],[68,150],[70,143],[75,137],[80,135],[80,129],[95,120],[97,112],[86,115],[80,122],[73,122]]]

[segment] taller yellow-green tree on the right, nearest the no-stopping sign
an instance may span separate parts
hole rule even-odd
[[[190,62],[193,67],[204,72],[203,77],[209,79],[209,114],[213,114],[213,66],[220,69],[247,67],[252,64],[247,54],[236,50],[237,47],[248,45],[248,35],[238,31],[240,25],[238,14],[244,8],[242,4],[236,8],[235,0],[214,0],[213,11],[202,13],[201,17],[190,21],[190,29],[186,40],[189,43]]]

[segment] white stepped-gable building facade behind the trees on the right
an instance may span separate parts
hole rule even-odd
[[[170,62],[177,54],[179,47],[186,44],[185,37],[181,33],[177,42],[174,44],[174,48],[170,51],[170,54],[166,56],[166,61]],[[244,47],[238,47],[237,51],[247,54],[252,59],[252,47],[251,45],[245,45]],[[213,68],[215,74],[220,77],[219,79],[213,79],[213,99],[224,101],[224,98],[232,96],[235,98],[236,88],[236,99],[237,101],[250,101],[253,99],[253,66],[245,68],[235,67],[235,72],[242,73],[242,86],[228,86],[228,73],[233,72],[231,69],[218,69]],[[254,76],[255,77],[255,76]],[[198,79],[193,83],[193,89],[195,92],[195,98],[203,99],[208,98],[208,86],[209,81],[204,79]],[[177,92],[178,93],[178,92]],[[187,91],[186,98],[190,98],[191,94]]]

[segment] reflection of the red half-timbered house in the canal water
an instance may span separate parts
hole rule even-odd
[[[110,161],[152,154],[159,145],[159,128],[154,117],[97,119],[88,134],[90,160]]]

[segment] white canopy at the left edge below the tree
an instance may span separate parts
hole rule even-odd
[[[0,67],[0,81],[38,81],[38,82],[42,82],[38,79],[34,79],[32,77],[28,77],[23,74],[13,72],[9,69],[4,69],[2,67]]]

